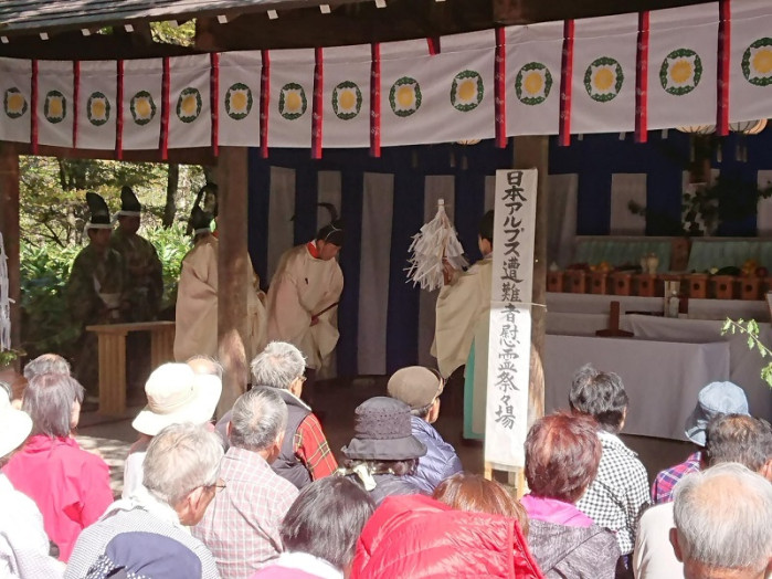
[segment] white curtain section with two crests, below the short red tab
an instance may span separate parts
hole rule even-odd
[[[448,143],[495,135],[493,30],[381,44],[381,143]]]

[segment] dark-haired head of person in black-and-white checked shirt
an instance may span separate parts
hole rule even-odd
[[[606,432],[616,434],[622,430],[628,401],[622,379],[614,372],[602,372],[586,365],[573,376],[569,392],[571,410],[590,414]]]

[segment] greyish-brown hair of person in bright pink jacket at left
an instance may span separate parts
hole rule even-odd
[[[73,404],[83,402],[85,390],[68,375],[33,376],[24,391],[22,410],[32,418],[32,434],[68,436]]]

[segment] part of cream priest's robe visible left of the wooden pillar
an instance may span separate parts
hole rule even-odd
[[[177,286],[175,359],[218,356],[218,240],[205,235],[182,260]]]

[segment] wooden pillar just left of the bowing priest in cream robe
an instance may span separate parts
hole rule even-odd
[[[218,337],[223,366],[222,397],[218,415],[228,412],[246,391],[246,296],[248,280],[247,149],[222,147],[216,168],[219,188],[218,231]]]

